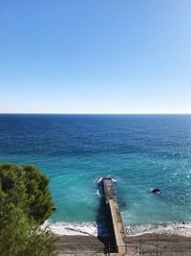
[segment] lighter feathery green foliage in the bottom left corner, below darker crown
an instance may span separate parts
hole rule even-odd
[[[6,207],[7,208],[7,207]],[[7,209],[6,209],[7,210]],[[29,222],[23,211],[12,207],[7,222],[0,229],[1,256],[53,256],[56,255],[56,237]]]

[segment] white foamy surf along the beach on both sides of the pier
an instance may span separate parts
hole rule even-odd
[[[96,222],[51,222],[45,221],[42,228],[53,231],[58,236],[97,236]],[[126,225],[126,235],[130,237],[144,234],[166,234],[191,237],[191,222],[167,224]]]

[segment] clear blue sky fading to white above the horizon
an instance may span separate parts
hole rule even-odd
[[[0,112],[191,113],[190,0],[0,0]]]

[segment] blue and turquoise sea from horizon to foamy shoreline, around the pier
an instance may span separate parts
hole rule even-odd
[[[127,234],[191,236],[191,115],[0,114],[0,162],[50,178],[57,234],[97,234],[112,177]]]

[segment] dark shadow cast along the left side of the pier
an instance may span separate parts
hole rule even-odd
[[[105,253],[111,248],[116,248],[116,238],[112,215],[109,205],[106,205],[102,181],[97,183],[97,194],[99,195],[99,205],[96,214],[97,238],[104,244]]]

